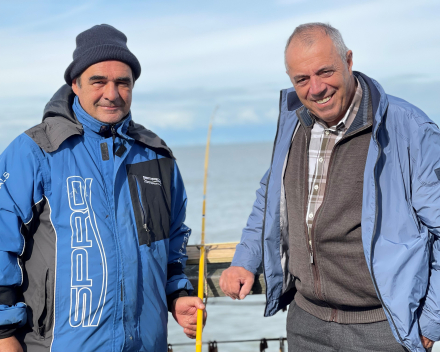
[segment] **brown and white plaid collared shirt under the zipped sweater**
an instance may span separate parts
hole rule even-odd
[[[336,126],[328,127],[324,121],[310,114],[315,121],[311,131],[309,146],[309,198],[306,213],[310,249],[312,249],[311,230],[313,220],[324,200],[328,166],[333,147],[350,128],[362,101],[362,87],[357,78],[355,79],[357,89],[353,101],[344,118]],[[313,257],[311,260],[313,261]]]

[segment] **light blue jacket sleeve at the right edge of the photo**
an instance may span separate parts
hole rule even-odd
[[[440,340],[440,131],[433,123],[420,126],[413,172],[413,207],[430,232],[429,285],[419,317],[421,334]]]

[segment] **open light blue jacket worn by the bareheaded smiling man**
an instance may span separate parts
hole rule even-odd
[[[420,334],[440,340],[440,131],[417,107],[354,74],[368,84],[374,115],[363,186],[365,258],[395,338],[422,352]],[[295,293],[287,270],[283,176],[301,106],[293,88],[281,91],[271,166],[232,262],[253,273],[263,263],[265,316]]]

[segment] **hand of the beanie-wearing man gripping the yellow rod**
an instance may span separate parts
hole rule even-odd
[[[203,326],[205,326],[208,314],[205,305],[198,297],[179,297],[173,302],[171,313],[177,323],[183,328],[183,332],[190,339],[196,338],[197,332],[197,309],[203,309]]]

